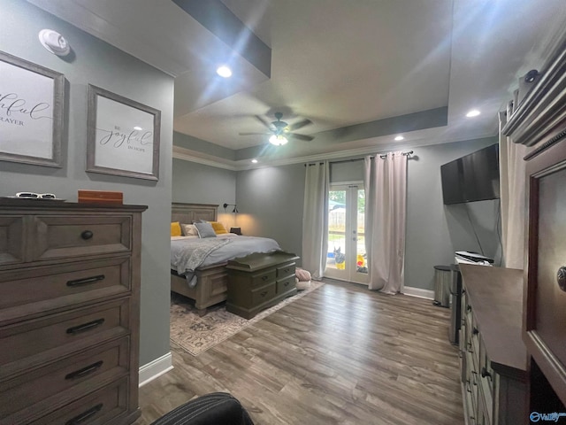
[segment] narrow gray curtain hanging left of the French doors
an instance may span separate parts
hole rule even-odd
[[[302,212],[302,268],[314,279],[324,276],[328,251],[328,161],[307,164]]]

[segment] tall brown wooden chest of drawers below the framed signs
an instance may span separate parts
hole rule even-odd
[[[141,205],[0,199],[0,424],[139,416]]]

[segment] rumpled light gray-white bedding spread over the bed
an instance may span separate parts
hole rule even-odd
[[[280,250],[279,243],[268,237],[238,236],[233,233],[199,239],[172,236],[171,268],[178,274],[192,274],[197,267],[224,263],[252,252]]]

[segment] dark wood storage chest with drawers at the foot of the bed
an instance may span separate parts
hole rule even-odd
[[[294,284],[296,255],[274,251],[231,259],[226,310],[251,319],[267,307],[297,293]]]

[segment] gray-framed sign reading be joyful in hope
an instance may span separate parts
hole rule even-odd
[[[87,172],[159,180],[161,112],[88,85]]]

